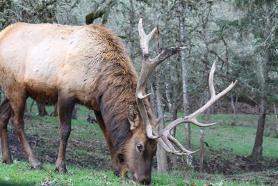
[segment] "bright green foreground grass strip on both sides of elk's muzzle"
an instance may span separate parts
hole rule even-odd
[[[78,169],[68,166],[68,173],[60,174],[54,170],[54,165],[44,164],[44,170],[31,170],[26,162],[15,161],[12,165],[0,164],[0,185],[135,185],[131,180],[122,180],[114,176],[112,171],[95,171],[94,169]],[[234,182],[224,180],[221,175],[214,175],[209,178],[209,175],[204,175],[203,179],[196,179],[188,176],[184,178],[184,173],[181,171],[172,172],[169,174],[158,174],[153,171],[152,182],[153,185],[223,185],[231,186],[251,186],[263,185],[256,184],[260,178],[254,181]],[[190,171],[188,175],[193,175]],[[248,180],[247,175],[243,175],[243,180]]]

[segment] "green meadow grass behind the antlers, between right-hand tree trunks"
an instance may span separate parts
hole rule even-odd
[[[179,114],[181,117],[182,115]],[[227,150],[236,155],[250,155],[256,137],[256,122],[258,116],[238,114],[238,121],[231,126],[234,118],[231,114],[211,115],[211,123],[218,125],[204,128],[204,141],[213,150]],[[198,119],[200,121],[200,119]],[[275,126],[275,116],[269,115],[265,124],[265,130]],[[177,139],[184,141],[183,125],[177,128]],[[193,149],[199,148],[199,127],[191,125],[191,137]],[[184,143],[184,142],[183,142]],[[263,137],[263,155],[265,157],[278,157],[278,143],[275,130],[272,134]]]

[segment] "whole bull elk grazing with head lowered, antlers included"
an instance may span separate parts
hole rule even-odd
[[[211,100],[190,116],[179,118],[164,130],[155,132],[158,121],[152,116],[144,91],[147,77],[156,65],[185,47],[163,49],[161,54],[150,59],[148,45],[156,29],[146,35],[142,19],[138,29],[142,49],[140,77],[120,39],[101,26],[16,23],[4,29],[0,33],[0,86],[6,95],[0,105],[2,162],[13,163],[7,136],[11,118],[31,168],[42,168],[24,132],[24,106],[28,97],[58,105],[60,147],[56,170],[60,173],[67,171],[65,151],[76,103],[95,111],[108,143],[113,171],[118,176],[126,176],[130,171],[137,183],[151,183],[156,144],[176,155],[194,153],[183,148],[170,135],[170,130],[184,122],[203,127],[213,125],[201,124],[196,117],[235,84],[215,95],[213,65],[209,77]]]

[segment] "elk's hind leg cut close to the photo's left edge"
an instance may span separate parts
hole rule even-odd
[[[11,116],[11,107],[8,99],[3,100],[0,104],[0,139],[2,148],[2,162],[12,164],[13,160],[10,155],[10,146],[8,144],[8,121]]]

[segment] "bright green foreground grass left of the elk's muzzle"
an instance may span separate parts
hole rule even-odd
[[[54,165],[44,164],[44,170],[31,170],[28,164],[15,161],[13,165],[0,166],[0,185],[122,185],[109,171],[76,169],[68,166],[68,173],[60,174]]]

